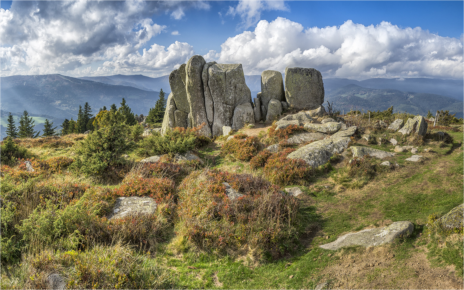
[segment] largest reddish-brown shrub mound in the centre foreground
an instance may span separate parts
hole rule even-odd
[[[243,190],[231,200],[223,182]],[[298,202],[249,174],[195,171],[180,186],[179,218],[187,238],[206,251],[237,256],[276,250],[299,233]]]

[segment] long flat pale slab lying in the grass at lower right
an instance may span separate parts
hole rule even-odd
[[[414,226],[409,221],[397,221],[390,226],[350,232],[337,238],[329,244],[320,247],[327,250],[338,250],[341,247],[361,245],[364,247],[391,243],[395,238],[408,237],[412,234]]]

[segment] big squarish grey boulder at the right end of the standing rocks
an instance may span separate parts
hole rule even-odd
[[[320,71],[313,68],[285,68],[285,98],[290,108],[309,110],[324,102]]]

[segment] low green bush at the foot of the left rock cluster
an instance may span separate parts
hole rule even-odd
[[[154,132],[151,136],[142,139],[138,143],[137,154],[139,156],[154,156],[169,153],[184,153],[194,148],[200,148],[211,140],[198,133],[197,128],[168,129],[164,135]]]

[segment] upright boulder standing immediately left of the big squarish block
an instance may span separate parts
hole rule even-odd
[[[261,73],[261,104],[267,108],[271,99],[285,101],[284,79],[279,71]]]

